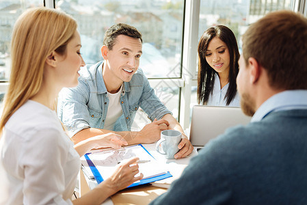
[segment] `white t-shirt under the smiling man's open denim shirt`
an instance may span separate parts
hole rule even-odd
[[[122,105],[120,105],[120,94],[122,93],[122,86],[120,90],[111,94],[107,92],[109,98],[109,106],[107,107],[107,117],[105,118],[105,130],[113,131],[116,120],[122,115]]]

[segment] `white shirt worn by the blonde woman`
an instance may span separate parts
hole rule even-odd
[[[55,111],[28,100],[0,139],[0,204],[72,204],[80,165]]]

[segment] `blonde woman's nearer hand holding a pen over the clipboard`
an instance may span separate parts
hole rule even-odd
[[[137,165],[137,161],[139,161],[139,158],[133,157],[120,163],[114,174],[107,178],[107,180],[101,182],[98,186],[103,187],[103,189],[109,189],[110,195],[113,195],[114,193],[128,187],[133,182],[142,180],[142,173],[139,174],[139,176],[135,176],[139,173],[139,165]]]

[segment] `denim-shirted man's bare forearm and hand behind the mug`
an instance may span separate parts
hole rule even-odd
[[[168,126],[168,129],[176,130],[176,131],[179,131],[183,134],[181,142],[178,144],[178,148],[179,148],[180,151],[177,154],[175,154],[175,156],[174,156],[175,159],[183,158],[183,157],[191,154],[191,152],[193,151],[193,146],[191,144],[191,141],[189,141],[189,139],[187,139],[187,136],[183,132],[183,128],[181,127],[179,122],[171,114],[164,115],[162,119],[167,120],[168,123],[170,124]]]

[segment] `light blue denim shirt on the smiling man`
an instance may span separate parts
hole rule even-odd
[[[84,66],[79,74],[78,86],[63,88],[57,104],[58,116],[71,136],[84,128],[103,128],[109,106],[107,88],[103,81],[103,61]],[[120,104],[123,114],[116,120],[113,131],[131,131],[139,107],[151,121],[172,114],[156,96],[140,68],[130,82],[124,82]]]

